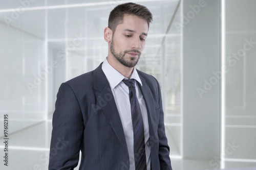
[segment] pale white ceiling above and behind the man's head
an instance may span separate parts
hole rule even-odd
[[[40,39],[67,40],[80,33],[96,38],[102,37],[110,11],[123,2],[126,1],[6,1],[0,6],[0,22]],[[154,15],[151,27],[157,28],[153,34],[159,35],[165,33],[178,3],[177,0],[133,2],[151,10]]]

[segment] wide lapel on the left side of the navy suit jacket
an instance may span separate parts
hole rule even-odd
[[[111,87],[105,77],[104,72],[101,69],[101,65],[102,63],[94,70],[94,89],[96,90],[96,98],[98,103],[100,103],[106,118],[116,133],[116,136],[128,154],[120,115],[117,110]]]

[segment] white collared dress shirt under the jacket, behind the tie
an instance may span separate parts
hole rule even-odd
[[[134,147],[133,147],[133,123],[132,123],[132,114],[131,114],[131,104],[129,98],[129,87],[126,86],[122,80],[127,79],[123,75],[120,74],[115,68],[113,68],[108,60],[105,58],[102,64],[102,70],[108,79],[110,84],[112,93],[114,95],[114,99],[116,102],[117,110],[119,112],[125,140],[127,144],[127,149],[129,153],[130,159],[130,170],[135,170],[135,162],[134,162]],[[151,166],[151,150],[150,150],[150,132],[148,129],[148,118],[147,118],[147,110],[145,101],[143,99],[143,95],[140,91],[140,87],[138,83],[142,86],[141,80],[139,78],[137,70],[134,68],[133,74],[130,79],[135,79],[135,88],[136,95],[139,101],[140,110],[143,118],[144,125],[144,136],[145,136],[145,152],[146,152],[146,163],[147,170],[150,170]],[[125,162],[126,163],[126,162]]]

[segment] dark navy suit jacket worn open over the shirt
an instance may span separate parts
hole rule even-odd
[[[62,83],[53,113],[49,169],[129,170],[121,119],[102,63]],[[172,169],[157,80],[138,71],[150,131],[151,168]]]

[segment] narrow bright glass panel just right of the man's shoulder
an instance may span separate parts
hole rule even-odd
[[[170,18],[170,16],[166,17]],[[173,23],[180,22],[180,8]],[[165,125],[172,155],[181,153],[181,30],[172,25],[165,39]]]

